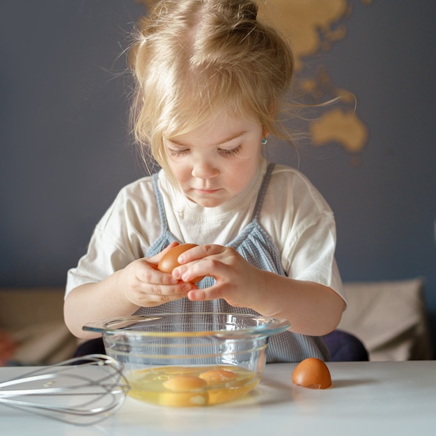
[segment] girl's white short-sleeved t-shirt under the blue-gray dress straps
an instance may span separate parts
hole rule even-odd
[[[171,185],[159,171],[169,230],[180,242],[226,245],[251,222],[267,168],[262,160],[243,192],[216,208],[203,208]],[[334,259],[336,225],[329,205],[299,171],[276,165],[259,222],[281,252],[288,277],[328,286],[345,300]],[[141,258],[161,234],[151,177],[120,190],[95,227],[87,253],[68,271],[65,295],[84,283],[97,282]]]

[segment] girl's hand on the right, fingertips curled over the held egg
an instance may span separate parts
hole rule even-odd
[[[247,262],[235,249],[221,245],[200,245],[185,251],[178,258],[182,263],[173,270],[173,277],[189,281],[198,276],[214,277],[214,286],[193,288],[187,293],[192,301],[224,298],[235,307],[252,307],[264,288],[262,270]]]

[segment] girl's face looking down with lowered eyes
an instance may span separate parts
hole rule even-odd
[[[221,114],[188,134],[164,139],[169,168],[191,201],[219,206],[242,191],[260,160],[263,128],[249,117]]]

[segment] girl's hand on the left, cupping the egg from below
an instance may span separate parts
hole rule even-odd
[[[128,301],[142,307],[159,306],[186,297],[189,290],[196,288],[157,270],[160,258],[176,244],[171,243],[156,256],[134,260],[120,272],[119,288]]]

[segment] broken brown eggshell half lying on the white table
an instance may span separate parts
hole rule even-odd
[[[327,389],[332,387],[332,376],[329,368],[320,359],[309,357],[299,362],[292,375],[294,384],[311,389]]]

